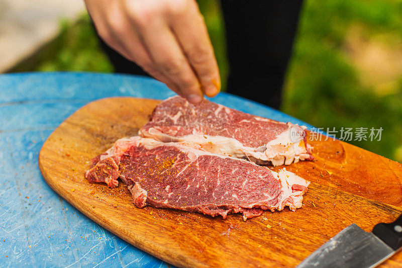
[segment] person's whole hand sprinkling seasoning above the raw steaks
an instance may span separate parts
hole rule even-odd
[[[102,39],[191,103],[219,93],[218,65],[194,0],[84,0]]]

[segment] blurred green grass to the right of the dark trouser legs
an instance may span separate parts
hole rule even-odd
[[[402,161],[402,77],[396,79],[392,94],[378,96],[345,51],[349,29],[355,25],[368,39],[388,35],[400,40],[401,12],[400,1],[306,1],[282,110],[317,127],[382,127],[381,141],[351,143]]]

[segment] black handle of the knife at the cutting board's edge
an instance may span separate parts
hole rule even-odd
[[[402,247],[402,215],[392,223],[378,223],[373,234],[395,251]]]

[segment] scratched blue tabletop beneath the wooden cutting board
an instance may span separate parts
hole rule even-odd
[[[131,75],[0,75],[0,266],[169,266],[98,226],[60,198],[43,180],[38,155],[51,132],[90,101],[112,96],[165,99],[172,95],[156,80]],[[233,95],[221,93],[213,101],[307,125]]]

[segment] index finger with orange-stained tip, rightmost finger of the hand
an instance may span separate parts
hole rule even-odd
[[[221,90],[221,79],[207,26],[196,4],[172,16],[170,24],[204,93],[214,97]]]

